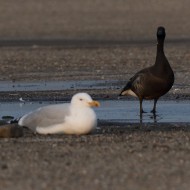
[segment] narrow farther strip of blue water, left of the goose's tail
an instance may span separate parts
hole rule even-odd
[[[11,82],[1,81],[0,91],[49,91],[122,88],[126,81],[84,80],[84,81],[48,81],[48,82]]]

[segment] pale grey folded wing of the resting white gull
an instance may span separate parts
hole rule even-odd
[[[19,125],[29,127],[34,130],[36,127],[47,127],[63,123],[65,117],[70,113],[70,104],[57,104],[41,107],[29,114],[24,115],[19,120]]]

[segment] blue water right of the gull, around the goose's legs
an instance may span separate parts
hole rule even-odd
[[[139,101],[103,101],[101,108],[97,110],[97,116],[101,120],[112,122],[139,123]],[[190,101],[158,101],[156,117],[150,111],[153,101],[144,101],[144,123],[187,123],[190,122]]]

